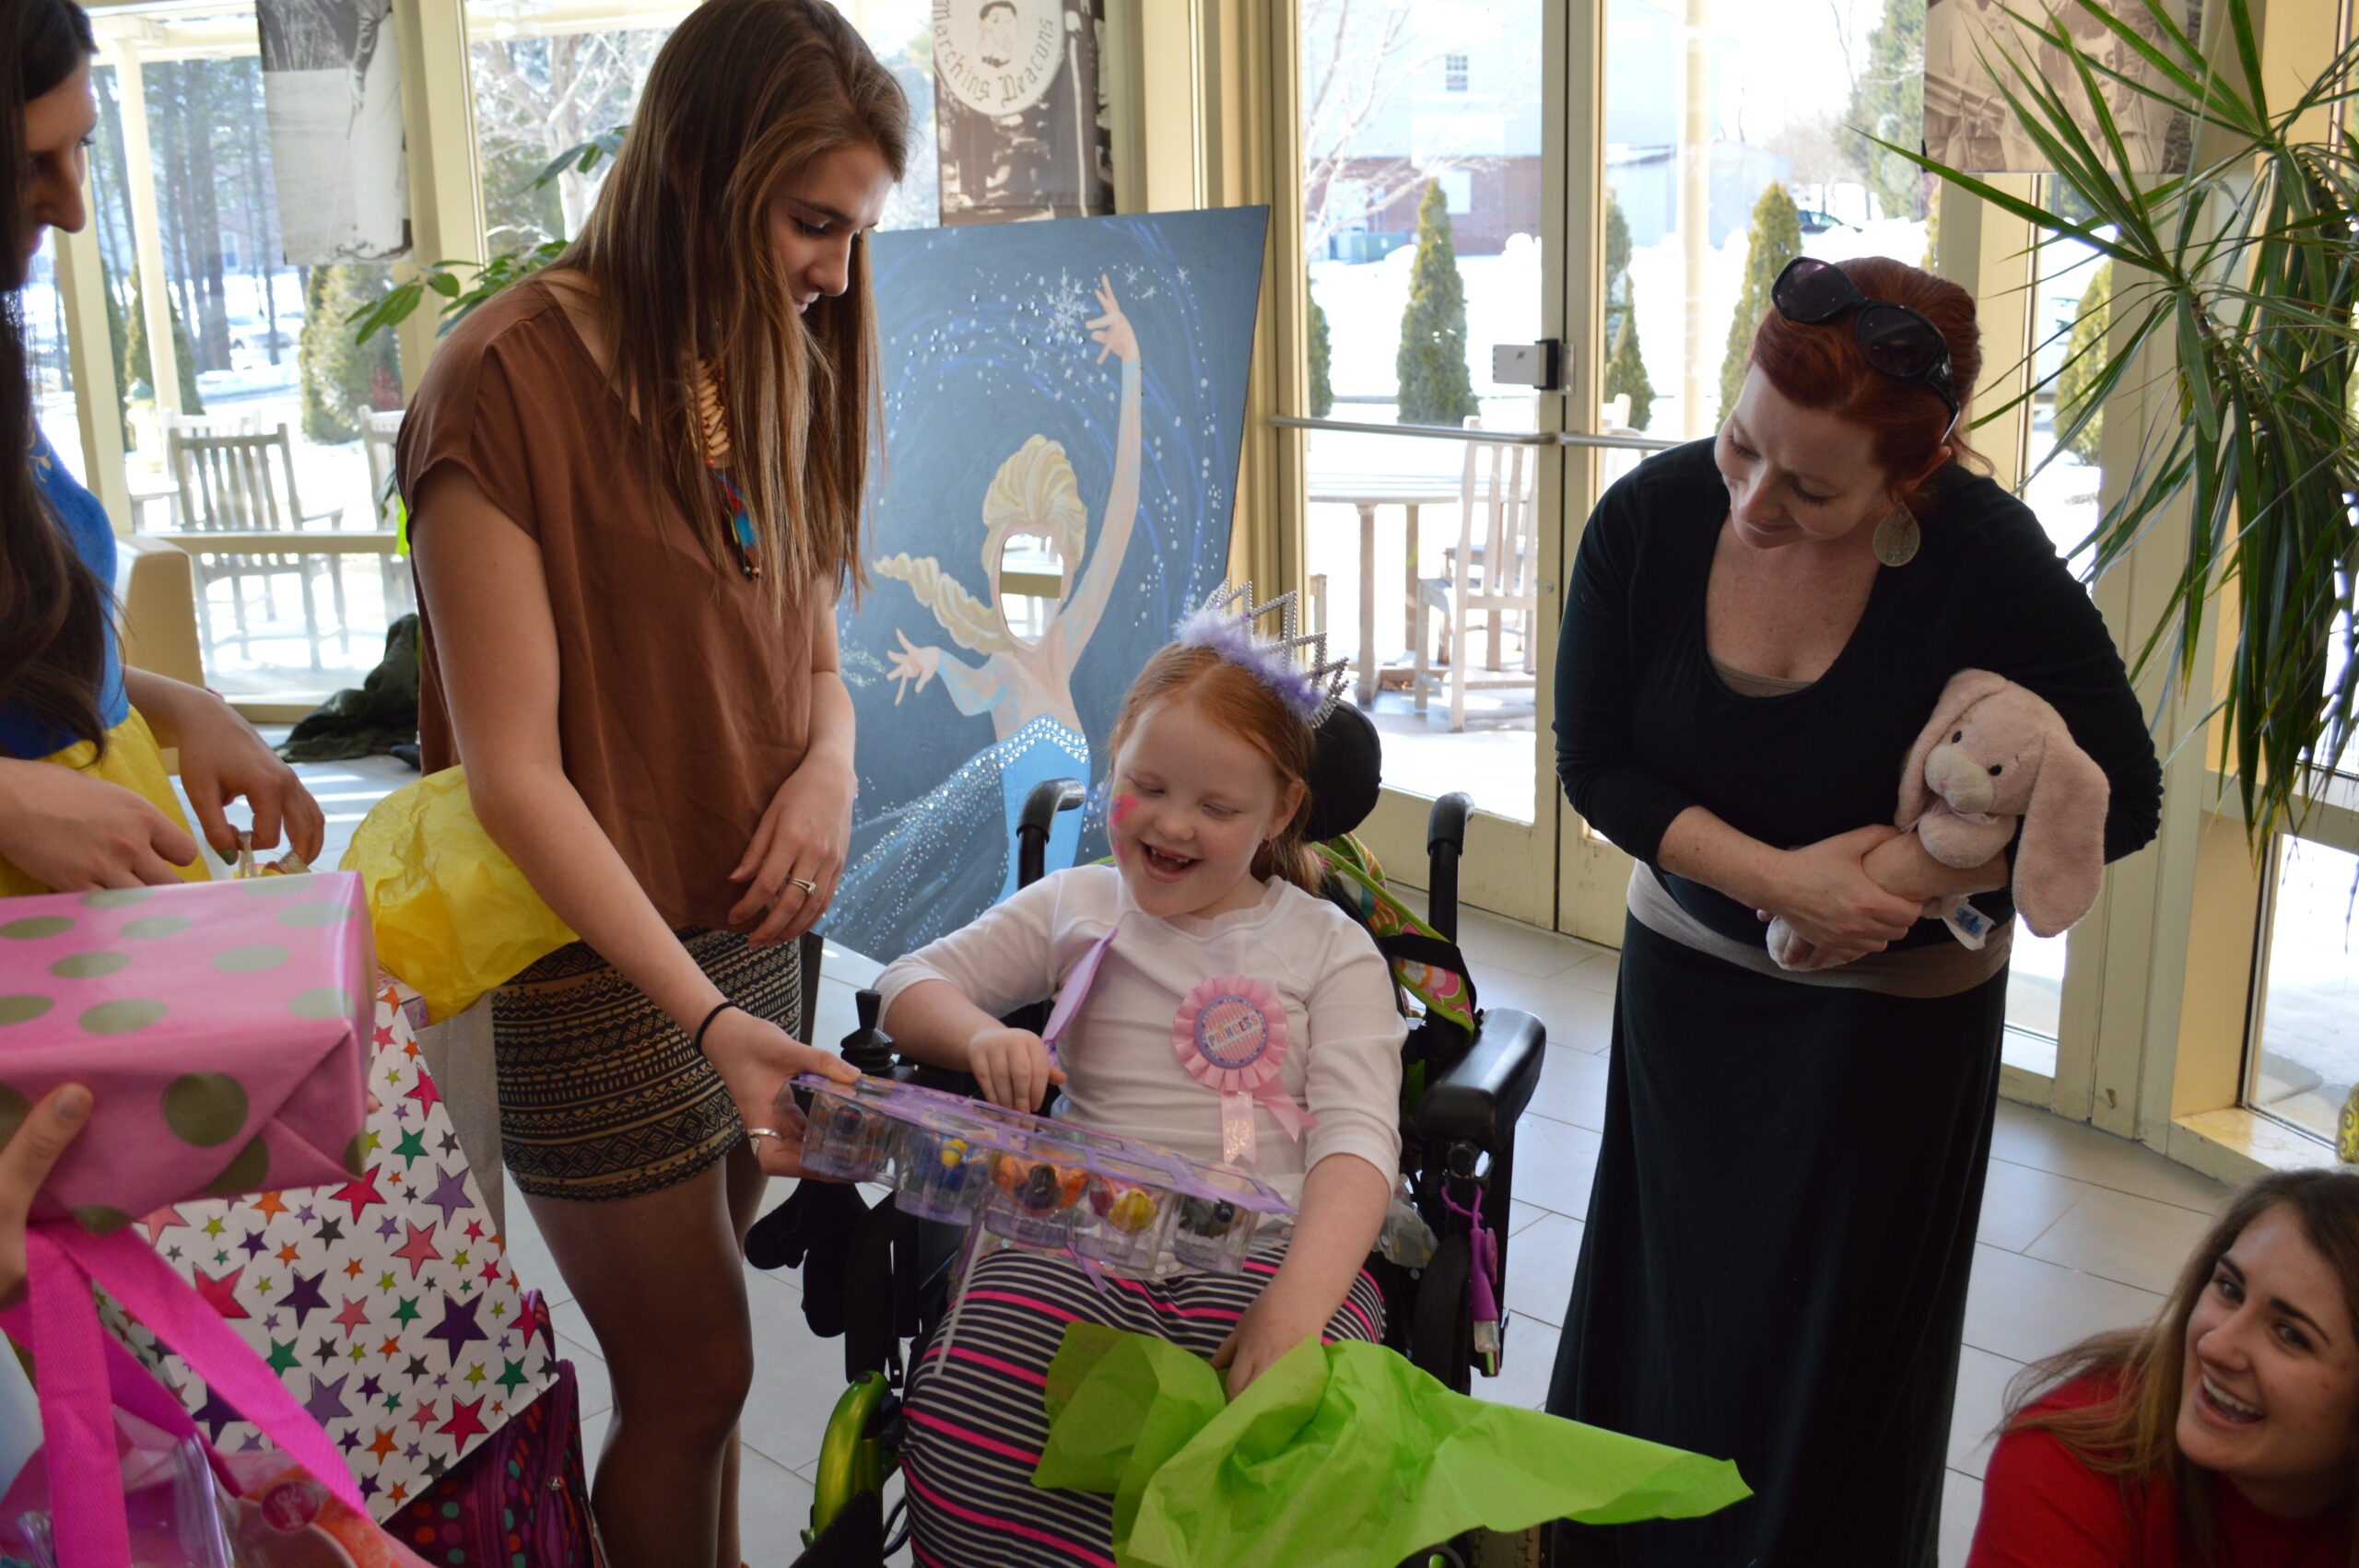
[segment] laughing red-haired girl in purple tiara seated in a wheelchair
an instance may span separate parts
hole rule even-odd
[[[1227,1370],[1229,1394],[1312,1335],[1378,1339],[1364,1264],[1399,1170],[1404,1019],[1385,960],[1316,896],[1312,729],[1340,667],[1255,637],[1250,587],[1182,622],[1113,726],[1113,865],[1076,865],[885,969],[885,1030],[974,1073],[1000,1106],[1243,1165],[1300,1191],[1290,1236],[1243,1276],[1090,1278],[1059,1254],[977,1266],[948,1356],[911,1375],[903,1469],[918,1561],[1111,1561],[1111,1497],[1043,1490],[1040,1391],[1066,1323],[1161,1335]],[[1290,627],[1288,627],[1290,630]],[[1102,946],[1104,943],[1104,946]],[[1102,948],[1102,950],[1099,950]],[[1052,1054],[1000,1014],[1099,953]],[[1217,1002],[1215,1002],[1217,997]]]

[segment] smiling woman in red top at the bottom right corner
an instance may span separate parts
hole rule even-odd
[[[2031,1368],[1970,1568],[2359,1563],[2359,1174],[2243,1186],[2170,1304]]]

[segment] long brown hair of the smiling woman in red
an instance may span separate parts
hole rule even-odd
[[[2302,1236],[2342,1283],[2347,1327],[2359,1339],[2359,1172],[2284,1170],[2236,1188],[2189,1254],[2154,1323],[2092,1335],[2062,1356],[2024,1368],[2010,1389],[2008,1431],[2052,1431],[2076,1460],[2100,1476],[2118,1478],[2125,1493],[2168,1478],[2180,1504],[2180,1551],[2194,1568],[2217,1561],[2220,1521],[2208,1478],[2177,1443],[2180,1401],[2187,1394],[2187,1320],[2227,1250],[2279,1205],[2293,1210]],[[2088,1375],[2109,1382],[2111,1396],[2074,1410],[2031,1410],[2043,1394]],[[2359,1471],[2352,1483],[2359,1490]],[[2359,1511],[2345,1561],[2359,1568]]]

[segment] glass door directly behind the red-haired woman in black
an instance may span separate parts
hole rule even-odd
[[[1795,255],[1925,264],[1930,184],[1847,127],[1918,137],[1908,0],[1595,0],[1592,111],[1566,123],[1566,564],[1581,519],[1649,450],[1710,436],[1743,380],[1769,278]],[[1576,231],[1578,224],[1566,224]],[[1571,295],[1573,288],[1578,295]],[[1562,582],[1562,578],[1559,578]],[[1550,780],[1552,783],[1552,780]],[[1621,946],[1630,858],[1564,811],[1559,929]]]

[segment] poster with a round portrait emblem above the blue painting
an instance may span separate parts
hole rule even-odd
[[[1113,212],[1104,0],[934,0],[941,222]]]

